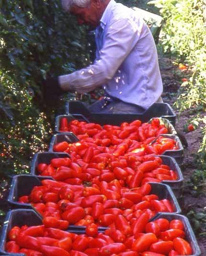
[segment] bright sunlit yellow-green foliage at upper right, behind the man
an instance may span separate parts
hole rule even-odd
[[[161,43],[165,52],[191,66],[176,105],[184,110],[206,107],[206,2],[205,0],[153,0],[164,18]]]

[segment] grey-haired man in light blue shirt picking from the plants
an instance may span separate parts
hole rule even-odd
[[[45,81],[46,97],[64,91],[89,92],[103,86],[93,112],[141,114],[162,102],[162,80],[152,34],[137,13],[114,0],[62,0],[79,24],[96,28],[96,60],[69,75]]]

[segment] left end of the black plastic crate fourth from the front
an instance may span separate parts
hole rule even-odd
[[[68,143],[74,143],[80,141],[72,132],[58,133],[52,136],[49,144],[49,152],[54,152],[53,147],[57,143],[67,141]]]

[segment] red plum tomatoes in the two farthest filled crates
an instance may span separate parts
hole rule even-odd
[[[80,140],[80,144],[91,143],[91,146],[101,153],[106,152],[117,157],[125,154],[138,156],[163,154],[166,150],[177,150],[173,139],[160,136],[167,134],[168,129],[165,125],[160,125],[158,118],[152,119],[151,123],[135,120],[131,123],[122,123],[120,126],[101,127],[99,124],[78,120],[68,123],[67,118],[64,117],[61,119],[59,130],[73,132]],[[79,148],[83,151],[85,146]],[[75,146],[71,146],[67,141],[54,146],[54,151],[70,153],[74,158],[78,157],[75,149]]]

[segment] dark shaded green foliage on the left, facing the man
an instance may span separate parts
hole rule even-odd
[[[87,64],[84,38],[59,0],[0,1],[1,175],[29,171],[33,154],[47,150],[54,110],[41,81]]]

